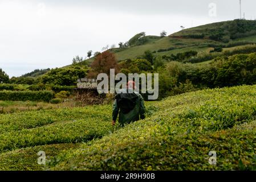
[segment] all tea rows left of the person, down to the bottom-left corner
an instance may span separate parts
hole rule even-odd
[[[0,169],[45,169],[37,164],[37,152],[53,157],[110,134],[110,119],[109,105],[0,115]]]

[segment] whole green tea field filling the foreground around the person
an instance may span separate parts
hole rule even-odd
[[[111,105],[0,115],[0,169],[255,169],[255,90],[208,89],[147,102],[147,118],[124,128],[111,126]],[[36,163],[39,151],[51,158],[47,167]],[[208,163],[210,151],[217,165]]]

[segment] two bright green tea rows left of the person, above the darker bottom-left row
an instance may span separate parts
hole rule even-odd
[[[109,106],[26,111],[0,115],[0,152],[57,143],[79,143],[103,137],[111,126]]]

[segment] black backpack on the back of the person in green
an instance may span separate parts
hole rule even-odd
[[[121,112],[128,114],[136,106],[139,96],[135,93],[119,93],[116,96],[117,106]]]

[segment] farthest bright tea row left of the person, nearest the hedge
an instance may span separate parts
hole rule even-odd
[[[107,110],[107,111],[104,111]],[[0,133],[32,129],[55,122],[74,121],[87,118],[111,119],[110,106],[88,106],[74,109],[23,111],[0,115]]]

